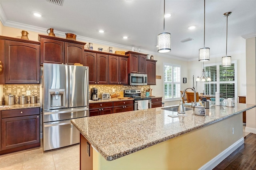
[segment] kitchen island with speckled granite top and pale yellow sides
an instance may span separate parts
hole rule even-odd
[[[243,144],[242,112],[253,107],[210,105],[206,116],[190,110],[174,118],[168,115],[176,112],[158,107],[73,119],[80,131],[80,168],[212,168]]]

